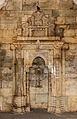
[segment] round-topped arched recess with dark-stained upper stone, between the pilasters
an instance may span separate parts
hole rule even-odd
[[[29,94],[31,108],[48,107],[48,67],[42,57],[34,58],[29,70]]]

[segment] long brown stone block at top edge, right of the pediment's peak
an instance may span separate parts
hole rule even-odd
[[[67,4],[68,2],[68,4]],[[73,8],[72,0],[39,0],[39,5],[42,9],[71,9]]]

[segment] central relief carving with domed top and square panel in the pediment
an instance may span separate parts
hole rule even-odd
[[[45,37],[54,35],[55,24],[54,20],[45,15],[43,11],[36,11],[27,21],[28,26],[31,27],[33,37]]]

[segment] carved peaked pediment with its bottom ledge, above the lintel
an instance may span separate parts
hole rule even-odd
[[[59,34],[56,34],[56,24],[54,18],[51,18],[49,15],[45,15],[43,11],[35,11],[31,17],[23,24],[22,22],[17,27],[17,40],[36,40],[39,38],[42,40],[52,40],[52,37],[56,40],[56,37],[62,35],[62,29],[58,29]],[[58,33],[57,32],[57,33]]]

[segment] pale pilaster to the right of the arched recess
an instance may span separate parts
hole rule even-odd
[[[54,49],[54,68],[55,68],[55,113],[61,113],[61,47]]]

